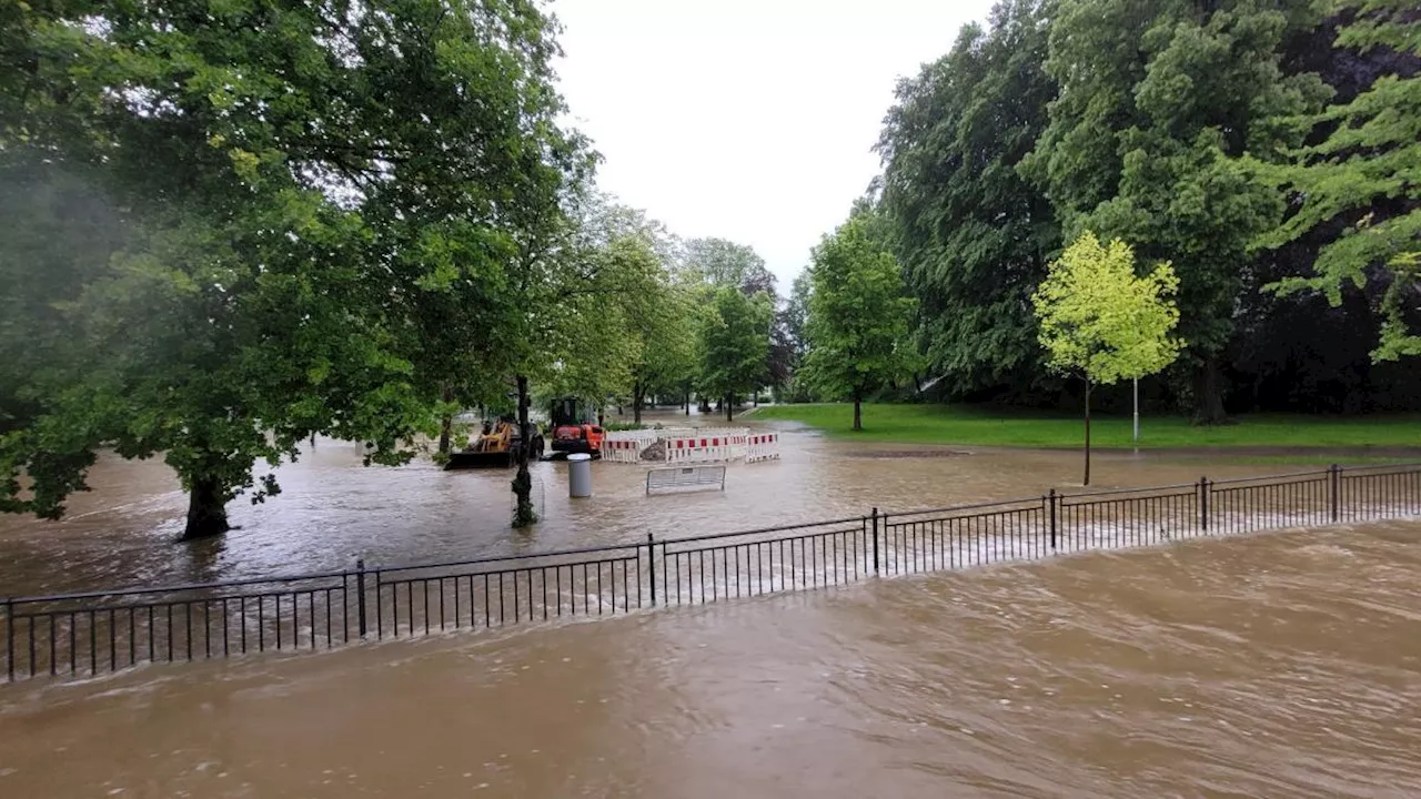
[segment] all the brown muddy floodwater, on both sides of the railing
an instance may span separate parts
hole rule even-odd
[[[507,473],[364,469],[175,545],[158,463],[0,520],[0,594],[534,552],[1034,496],[1071,452],[912,458],[786,429],[726,490],[595,465],[514,533]],[[1098,488],[1289,468],[1110,454]],[[1421,522],[1191,540],[311,655],[0,685],[0,798],[1421,796]]]

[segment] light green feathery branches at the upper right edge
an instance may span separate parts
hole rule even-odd
[[[1340,7],[1353,21],[1339,31],[1339,48],[1421,57],[1415,3],[1344,0]],[[1356,98],[1304,121],[1304,129],[1330,131],[1326,138],[1287,152],[1285,165],[1263,166],[1300,202],[1262,245],[1280,247],[1344,222],[1343,235],[1317,253],[1316,274],[1283,280],[1276,290],[1322,290],[1336,307],[1344,286],[1361,289],[1373,267],[1387,267],[1374,361],[1421,355],[1421,334],[1408,323],[1421,297],[1421,73],[1414,60],[1393,64],[1405,68],[1390,70]]]

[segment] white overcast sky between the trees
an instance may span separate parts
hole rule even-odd
[[[554,0],[598,186],[682,237],[750,245],[787,294],[880,171],[894,84],[992,0]]]

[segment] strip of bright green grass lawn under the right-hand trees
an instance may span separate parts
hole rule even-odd
[[[979,405],[864,405],[864,429],[853,432],[850,404],[762,407],[755,418],[791,419],[836,438],[897,444],[971,444],[979,446],[1080,446],[1083,421],[1066,414]],[[1141,448],[1181,446],[1415,446],[1421,415],[1313,417],[1266,414],[1238,417],[1238,424],[1194,427],[1181,417],[1140,419]],[[1130,418],[1096,414],[1093,446],[1134,446]]]

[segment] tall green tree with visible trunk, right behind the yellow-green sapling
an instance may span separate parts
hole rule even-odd
[[[1172,260],[1199,422],[1223,419],[1221,358],[1250,243],[1283,213],[1241,156],[1302,144],[1286,119],[1327,90],[1286,74],[1282,54],[1319,17],[1313,0],[1061,0],[1052,24],[1060,92],[1022,166],[1067,237],[1098,230]]]

